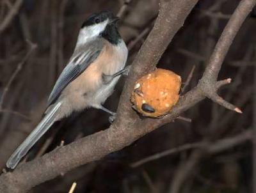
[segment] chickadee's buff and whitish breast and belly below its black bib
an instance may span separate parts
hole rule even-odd
[[[82,111],[86,107],[100,108],[120,78],[115,77],[109,84],[103,84],[102,73],[113,75],[125,67],[128,50],[124,41],[118,45],[107,43],[100,56],[61,94],[65,98],[63,112],[68,116],[72,111]]]

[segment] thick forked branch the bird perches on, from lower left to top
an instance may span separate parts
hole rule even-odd
[[[132,76],[125,84],[117,120],[109,129],[58,148],[42,158],[20,164],[12,173],[2,174],[0,192],[26,192],[39,183],[55,178],[60,173],[120,150],[159,125],[163,125],[164,121],[156,120],[156,124],[148,127],[150,121],[144,125],[143,121],[134,116],[135,113],[131,110],[129,102],[129,93],[138,77],[154,69],[196,2],[197,0],[161,1],[159,17],[132,65]],[[186,102],[188,99],[185,97],[182,101]],[[168,121],[171,118],[174,119],[187,107],[188,104],[184,105],[184,108],[178,107],[177,111],[168,117]]]

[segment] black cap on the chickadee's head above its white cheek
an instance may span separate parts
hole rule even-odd
[[[116,25],[116,22],[119,20],[119,17],[113,15],[112,12],[109,11],[102,11],[98,13],[93,13],[90,15],[82,24],[81,28],[93,26],[95,24],[100,24],[101,22],[105,22],[108,20],[108,24]]]

